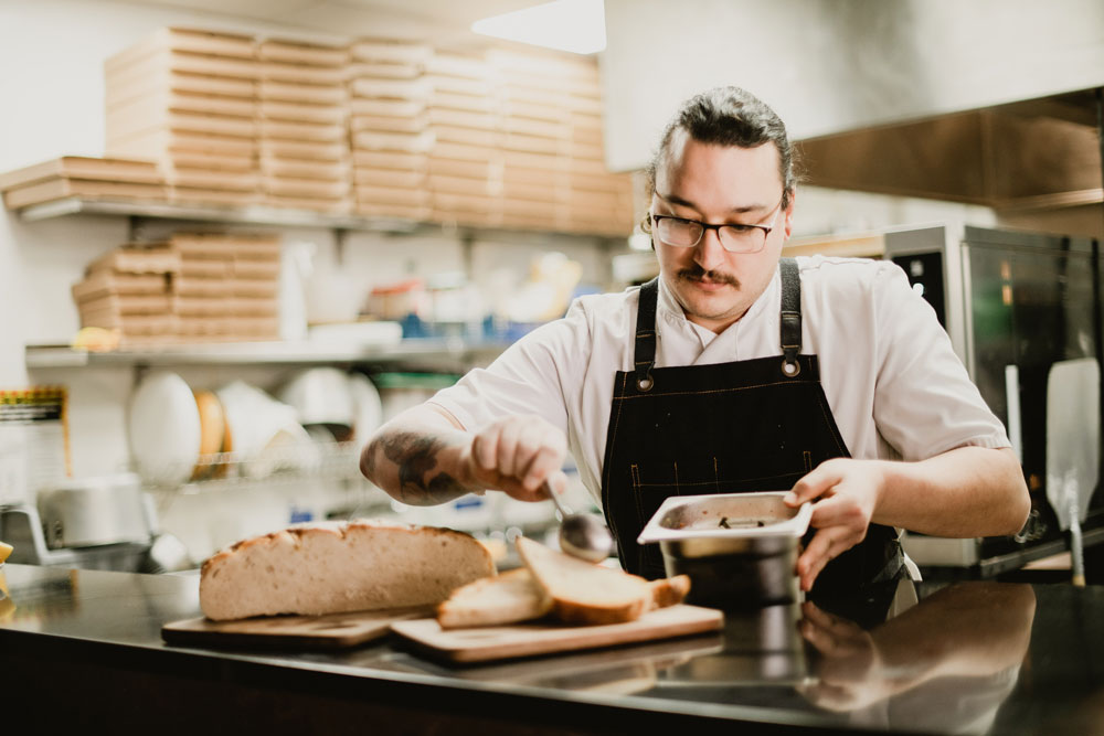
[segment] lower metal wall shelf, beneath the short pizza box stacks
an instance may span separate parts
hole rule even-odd
[[[26,345],[29,369],[128,365],[289,365],[314,363],[468,363],[493,358],[502,342],[404,340],[396,345],[338,346],[328,342],[238,342],[89,352],[68,345]]]

